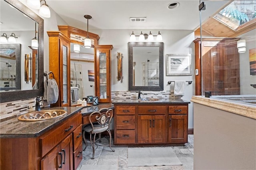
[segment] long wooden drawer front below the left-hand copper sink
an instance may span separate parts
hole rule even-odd
[[[44,156],[53,147],[60,143],[76,127],[81,125],[82,114],[76,113],[75,116],[62,123],[59,127],[52,128],[50,132],[40,138],[41,156]]]

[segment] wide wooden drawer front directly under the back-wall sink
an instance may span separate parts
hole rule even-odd
[[[139,115],[164,115],[166,113],[165,106],[139,106]]]

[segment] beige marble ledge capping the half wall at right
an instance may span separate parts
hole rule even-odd
[[[229,102],[221,99],[213,99],[203,96],[192,96],[191,101],[223,111],[228,111],[230,113],[235,113],[237,115],[256,119],[256,106],[244,105],[241,103]]]

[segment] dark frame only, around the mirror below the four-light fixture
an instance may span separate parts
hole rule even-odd
[[[159,86],[133,86],[133,47],[159,47]],[[163,91],[164,90],[164,43],[128,42],[128,90]]]

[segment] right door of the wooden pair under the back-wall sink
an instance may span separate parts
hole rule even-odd
[[[152,143],[165,143],[167,136],[166,116],[152,116]]]

